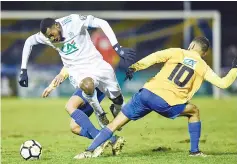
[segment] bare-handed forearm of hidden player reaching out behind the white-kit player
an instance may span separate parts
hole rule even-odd
[[[50,93],[56,89],[64,80],[68,78],[68,71],[65,67],[63,67],[60,71],[60,73],[53,79],[53,81],[50,83],[50,85],[45,88],[45,90],[42,93],[42,97],[48,97]]]

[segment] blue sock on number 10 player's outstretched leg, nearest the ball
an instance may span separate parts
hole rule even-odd
[[[105,127],[100,131],[100,133],[96,136],[96,138],[93,140],[92,144],[87,148],[88,151],[95,150],[98,146],[100,146],[102,143],[110,139],[113,135],[113,132]]]

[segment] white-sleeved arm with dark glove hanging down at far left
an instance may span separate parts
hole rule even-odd
[[[34,34],[28,37],[24,44],[24,48],[22,51],[21,73],[19,78],[19,84],[22,87],[28,87],[27,63],[32,47],[40,43],[37,41],[37,35],[38,34]]]

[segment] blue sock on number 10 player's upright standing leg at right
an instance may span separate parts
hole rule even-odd
[[[191,152],[199,151],[199,138],[201,133],[201,122],[193,122],[188,124],[188,131],[190,135],[190,144],[191,144]]]

